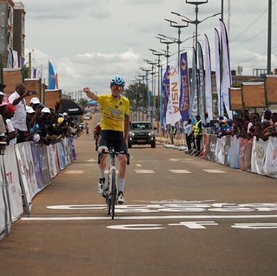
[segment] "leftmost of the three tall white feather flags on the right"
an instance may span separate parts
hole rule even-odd
[[[213,120],[213,89],[211,75],[211,50],[208,37],[205,35],[205,100],[206,111],[208,112],[207,121]]]

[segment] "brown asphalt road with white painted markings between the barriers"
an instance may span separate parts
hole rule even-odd
[[[96,192],[91,129],[76,148],[0,242],[0,275],[277,274],[276,179],[134,147],[127,202],[112,221]]]

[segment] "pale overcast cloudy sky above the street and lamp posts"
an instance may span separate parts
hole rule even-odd
[[[26,10],[26,55],[33,52],[33,65],[53,63],[59,75],[60,89],[66,93],[89,86],[100,93],[109,92],[109,80],[120,75],[128,83],[134,80],[143,59],[154,60],[149,48],[166,49],[154,36],[158,33],[177,37],[177,28],[164,18],[180,22],[170,11],[195,19],[195,6],[185,0],[21,0]],[[277,0],[272,0],[271,68],[277,68]],[[268,1],[231,0],[231,68],[243,67],[244,75],[253,68],[267,68]],[[221,0],[208,0],[199,6],[199,20],[221,11]],[[219,17],[199,24],[199,41],[206,34],[214,62],[214,28],[220,29]],[[224,0],[227,25],[227,0]],[[184,22],[183,22],[184,23]],[[181,30],[181,39],[193,36],[195,25]],[[193,39],[181,44],[191,62]],[[177,44],[170,46],[172,54]],[[172,55],[170,59],[177,58]],[[163,59],[166,62],[166,58]]]

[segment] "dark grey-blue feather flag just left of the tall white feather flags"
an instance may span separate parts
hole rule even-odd
[[[198,53],[198,63],[199,63],[199,98],[198,98],[198,108],[199,115],[202,122],[206,122],[205,117],[205,82],[204,82],[204,62],[203,62],[203,51],[202,46],[197,42],[197,53]]]

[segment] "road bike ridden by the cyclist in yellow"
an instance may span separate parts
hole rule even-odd
[[[108,151],[101,151],[98,154],[98,164],[104,154],[109,154],[109,178],[108,186],[105,189],[104,197],[107,203],[107,214],[111,215],[111,219],[114,219],[115,207],[116,207],[116,195],[117,195],[117,184],[116,184],[116,156],[124,154],[127,157],[127,165],[129,165],[129,154],[127,151],[114,151],[114,147],[110,147]]]

